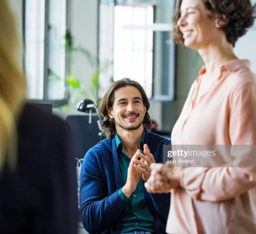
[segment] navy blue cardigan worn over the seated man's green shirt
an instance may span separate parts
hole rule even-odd
[[[163,162],[163,145],[171,142],[157,134],[146,131],[144,143],[148,144],[155,162]],[[122,187],[117,159],[115,138],[107,138],[84,157],[80,174],[80,215],[84,228],[93,233],[118,233],[126,202],[118,195]],[[155,221],[155,232],[165,233],[169,212],[169,194],[150,194],[145,200]]]

